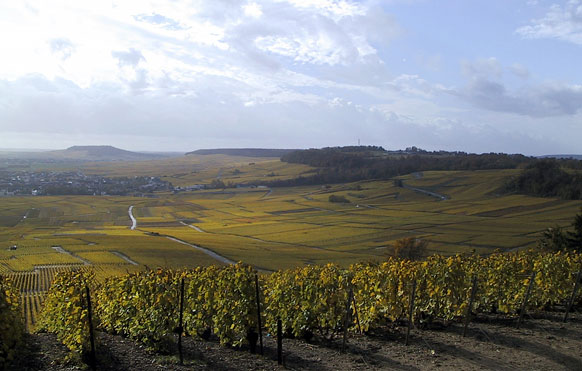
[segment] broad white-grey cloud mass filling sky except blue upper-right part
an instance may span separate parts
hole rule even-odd
[[[0,3],[0,34],[11,35],[0,39],[0,147],[9,138],[45,143],[43,135],[58,147],[82,138],[123,147],[139,133],[132,145],[150,138],[168,150],[309,147],[358,137],[393,148],[437,149],[441,143],[457,149],[464,143],[461,149],[497,150],[501,144],[487,148],[492,143],[479,145],[473,136],[509,135],[499,127],[521,124],[524,116],[532,118],[528,123],[552,117],[573,125],[568,120],[579,117],[582,106],[578,85],[533,85],[525,66],[505,67],[501,57],[463,62],[464,88],[431,81],[414,65],[439,70],[440,79],[449,56],[419,50],[416,55],[426,57],[415,63],[416,52],[393,50],[392,41],[407,33],[388,13],[391,2],[29,4],[33,8]],[[391,69],[405,57],[406,67]],[[505,82],[512,74],[522,86]],[[547,137],[544,130],[528,132],[533,139],[527,145],[537,143],[534,135]]]

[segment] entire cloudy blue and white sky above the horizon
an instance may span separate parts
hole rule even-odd
[[[0,148],[582,153],[582,0],[0,2]]]

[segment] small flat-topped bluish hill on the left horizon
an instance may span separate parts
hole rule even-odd
[[[157,153],[126,151],[113,146],[73,146],[64,150],[43,152],[42,156],[83,161],[146,161],[167,157]]]

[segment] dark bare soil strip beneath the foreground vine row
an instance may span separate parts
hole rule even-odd
[[[582,313],[562,322],[563,313],[527,315],[520,329],[515,318],[480,316],[470,324],[435,324],[413,329],[404,345],[406,325],[390,324],[366,335],[352,335],[346,352],[342,339],[311,342],[283,340],[284,365],[277,364],[276,341],[264,335],[264,356],[229,348],[216,340],[184,338],[184,365],[177,349],[161,355],[120,336],[98,334],[99,370],[582,370]],[[88,369],[66,362],[67,350],[54,335],[27,335],[11,370]]]

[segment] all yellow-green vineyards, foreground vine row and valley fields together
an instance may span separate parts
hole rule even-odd
[[[218,177],[260,182],[311,171],[272,159],[225,157],[193,168],[199,160],[175,167],[166,167],[166,160],[151,168],[140,163],[135,171],[157,176],[167,170],[164,178],[184,187]],[[121,162],[87,166],[103,174],[129,169]],[[255,272],[261,329],[271,337],[279,319],[285,336],[297,339],[337,339],[344,330],[362,336],[360,331],[409,322],[459,323],[469,306],[476,315],[517,319],[524,311],[566,303],[582,261],[526,252],[548,226],[570,225],[580,202],[497,194],[515,174],[399,177],[409,188],[361,181],[152,198],[6,197],[0,276],[10,282],[4,290],[15,298],[10,310],[23,318],[24,329],[55,332],[75,354],[86,354],[89,344],[83,282],[96,329],[154,349],[175,345],[182,279],[180,333],[237,347],[253,344],[259,332]],[[349,202],[330,202],[330,196]],[[403,238],[427,241],[427,255],[437,255],[422,262],[389,258]],[[216,266],[216,255],[204,251],[244,264]],[[580,295],[575,299],[579,303]]]

